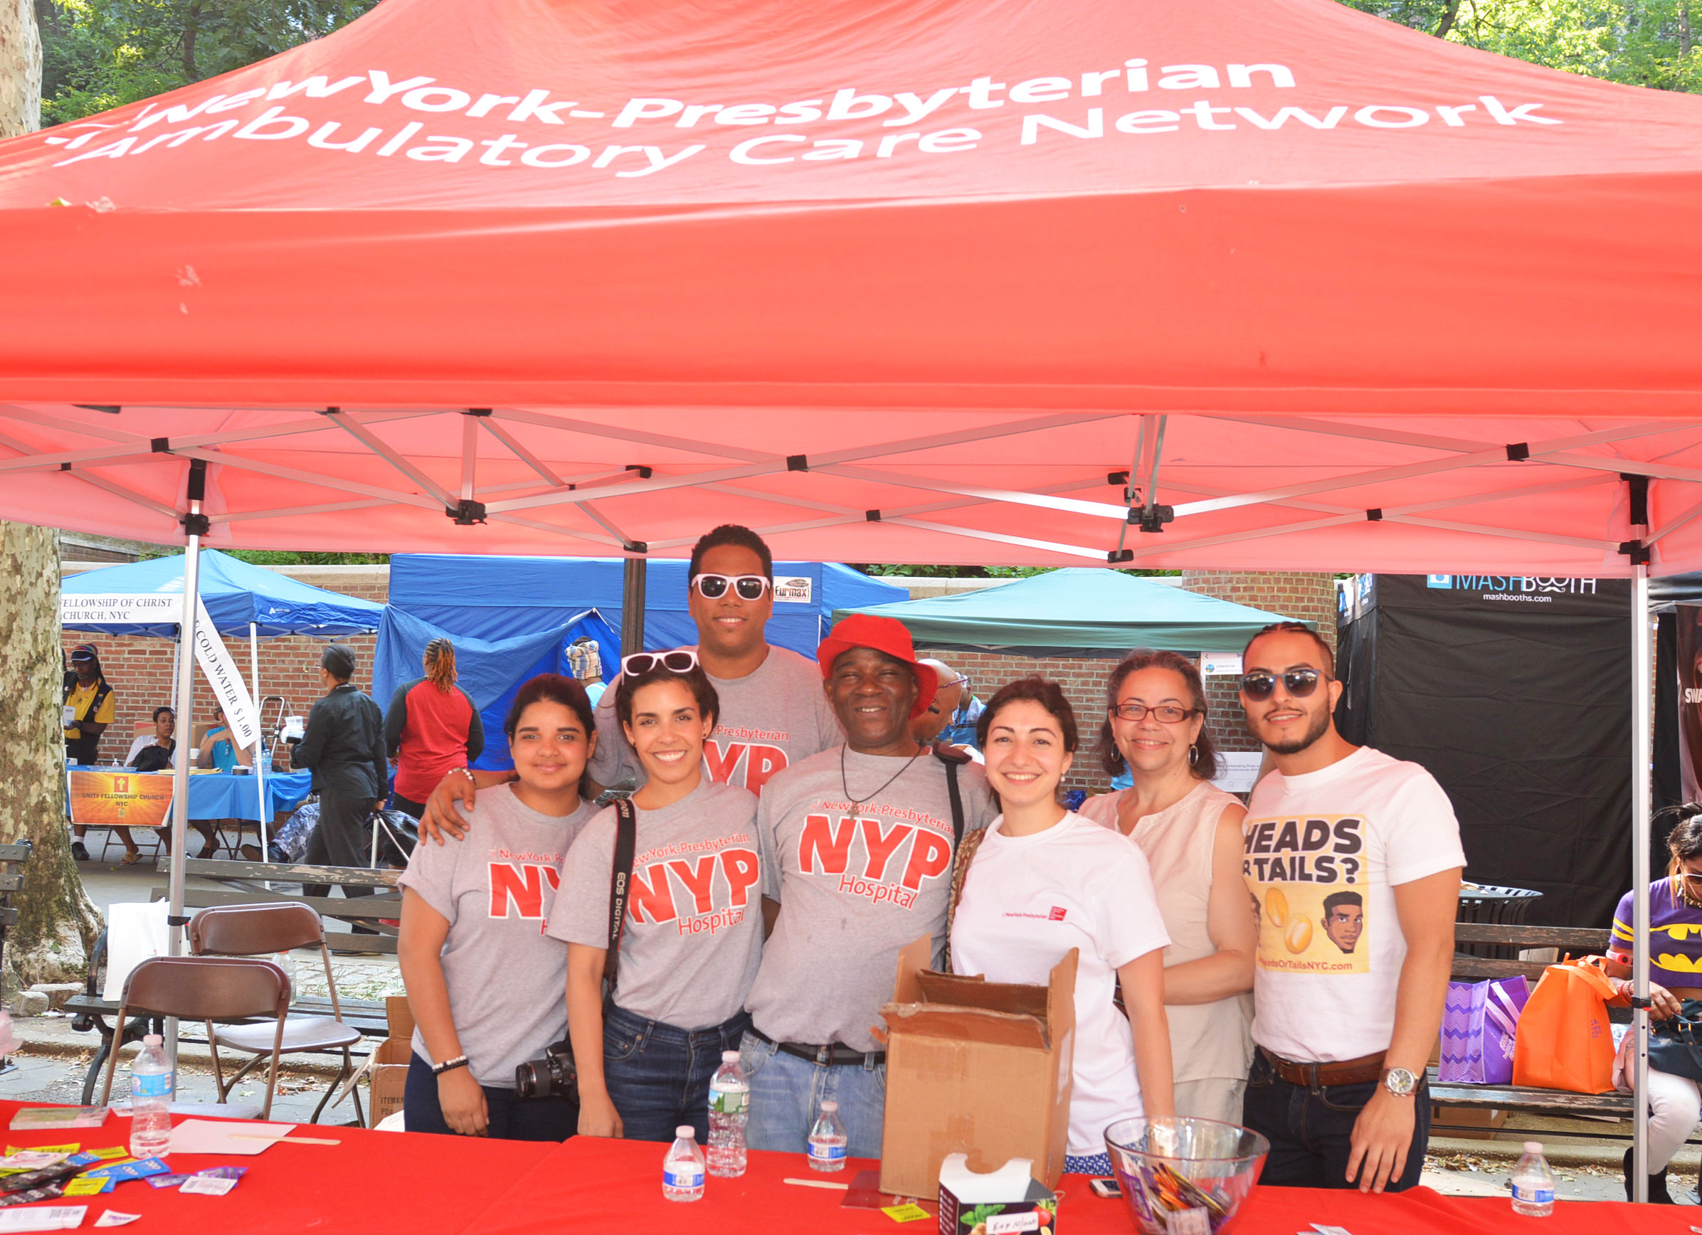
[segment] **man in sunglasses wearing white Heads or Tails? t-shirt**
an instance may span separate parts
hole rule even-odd
[[[1341,682],[1314,631],[1266,626],[1242,665],[1248,728],[1275,764],[1242,823],[1259,917],[1242,1123],[1271,1141],[1266,1184],[1402,1191],[1430,1140],[1460,827],[1430,772],[1336,731]],[[1351,948],[1331,924],[1350,900]]]

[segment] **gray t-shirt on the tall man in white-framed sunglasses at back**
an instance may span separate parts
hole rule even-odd
[[[591,776],[597,784],[623,779],[643,784],[638,755],[621,733],[614,714],[614,687],[597,701],[597,754]],[[768,650],[768,658],[744,677],[710,675],[722,701],[715,731],[703,743],[703,765],[711,781],[762,793],[769,777],[817,750],[844,742],[839,718],[822,691],[822,670],[786,648]]]

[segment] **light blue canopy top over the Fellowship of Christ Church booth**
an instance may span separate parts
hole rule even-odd
[[[279,635],[337,638],[378,629],[378,618],[385,611],[381,604],[310,587],[218,549],[201,549],[199,570],[201,600],[223,636],[248,638],[248,623],[255,623],[262,640]],[[60,583],[61,595],[182,594],[182,553],[85,570],[80,575],[68,575]],[[177,638],[175,623],[87,623],[65,629]]]

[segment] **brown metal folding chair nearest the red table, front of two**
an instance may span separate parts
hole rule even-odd
[[[150,956],[124,980],[117,1024],[128,1024],[131,1014],[175,1016],[186,1021],[206,1021],[209,1026],[213,1021],[271,1017],[271,1024],[252,1026],[262,1034],[271,1034],[271,1044],[255,1056],[257,1063],[271,1055],[266,1106],[260,1109],[262,1119],[271,1118],[272,1092],[277,1089],[277,1053],[284,1041],[284,1019],[289,1016],[289,976],[281,968],[271,961],[223,956]],[[117,1055],[114,1050],[107,1060],[106,1084],[100,1087],[102,1106],[112,1094]],[[220,1087],[220,1102],[226,1092]]]

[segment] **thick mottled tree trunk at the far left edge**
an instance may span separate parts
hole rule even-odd
[[[0,0],[0,136],[41,124],[41,39],[32,0]],[[32,840],[7,985],[82,976],[100,917],[83,895],[65,827],[60,733],[60,538],[0,524],[0,840]]]

